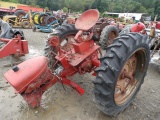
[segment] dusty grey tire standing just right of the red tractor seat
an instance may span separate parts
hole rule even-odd
[[[110,34],[113,34],[113,38],[110,38]],[[106,26],[100,35],[100,44],[102,47],[107,47],[108,45],[112,44],[114,38],[118,37],[118,29],[116,26],[108,25]]]

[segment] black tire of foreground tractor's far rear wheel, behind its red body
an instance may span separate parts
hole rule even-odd
[[[52,38],[53,36],[58,36],[60,39],[60,44],[61,44],[64,41],[64,38],[66,38],[67,36],[75,36],[77,32],[78,30],[72,24],[62,25],[56,28],[55,31],[49,35],[49,38]],[[51,46],[48,43],[48,41],[46,41],[46,47],[44,51],[45,51],[45,56],[49,58],[48,66],[53,72],[53,68],[54,68],[53,65],[56,61],[55,54],[53,54],[53,52],[57,53],[57,49]]]

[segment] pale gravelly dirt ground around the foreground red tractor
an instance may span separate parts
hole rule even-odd
[[[29,41],[30,53],[21,59],[43,55],[48,34],[23,31]],[[160,72],[154,65],[149,66],[145,82],[132,104],[118,116],[109,117],[93,102],[92,81],[95,78],[90,74],[77,74],[71,78],[85,89],[83,96],[68,87],[65,91],[62,85],[56,84],[44,94],[43,108],[31,109],[3,77],[11,68],[3,67],[6,63],[9,63],[9,57],[0,59],[0,120],[160,120]]]

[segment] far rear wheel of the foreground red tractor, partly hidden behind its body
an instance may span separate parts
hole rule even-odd
[[[77,34],[78,30],[75,28],[74,25],[68,24],[68,25],[62,25],[55,29],[53,33],[49,35],[49,38],[52,38],[53,36],[58,36],[60,39],[60,46],[63,50],[69,51],[72,48],[71,43],[74,42],[74,36]],[[55,66],[55,54],[57,53],[57,49],[53,46],[51,46],[48,41],[46,41],[46,47],[44,49],[45,56],[49,59],[49,68],[53,72]]]

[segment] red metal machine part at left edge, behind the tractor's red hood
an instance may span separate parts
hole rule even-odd
[[[0,59],[6,56],[24,56],[28,53],[28,41],[24,40],[24,35],[21,31],[12,31],[13,38],[6,39],[0,38]],[[3,44],[2,44],[3,43]],[[11,66],[13,65],[13,61],[11,60]]]

